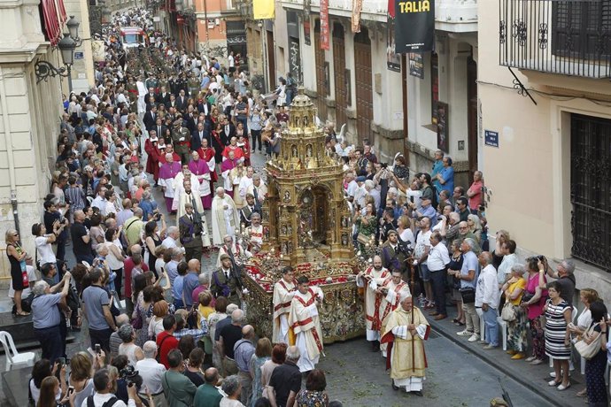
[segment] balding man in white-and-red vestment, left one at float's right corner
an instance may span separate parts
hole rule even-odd
[[[373,264],[367,267],[364,272],[357,274],[357,286],[365,288],[365,325],[367,341],[372,342],[372,348],[378,349],[380,341],[380,329],[382,329],[382,319],[380,318],[380,303],[382,293],[380,288],[391,273],[382,266],[382,257],[375,256]]]

